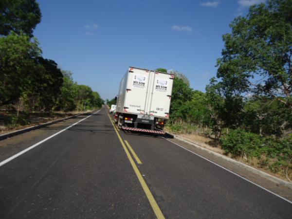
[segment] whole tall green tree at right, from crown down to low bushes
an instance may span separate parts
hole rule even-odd
[[[219,80],[212,78],[206,87],[214,131],[244,127],[280,135],[281,129],[291,127],[291,15],[292,0],[268,0],[230,24],[231,33],[223,36],[224,49],[217,61]],[[245,96],[277,101],[266,107]]]

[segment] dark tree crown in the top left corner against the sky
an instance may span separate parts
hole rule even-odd
[[[33,36],[33,30],[40,22],[41,12],[36,0],[1,0],[0,35],[11,31]]]

